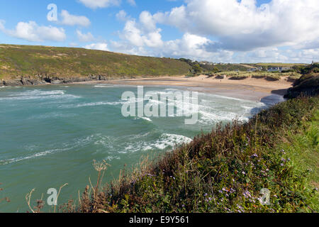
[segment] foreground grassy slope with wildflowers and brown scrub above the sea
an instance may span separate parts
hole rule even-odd
[[[86,187],[79,212],[318,212],[319,97],[299,96],[247,123],[218,125],[142,162],[118,181]],[[101,163],[101,172],[106,166]],[[106,172],[107,174],[107,172]],[[99,182],[99,181],[98,181]],[[270,192],[262,205],[261,190]]]

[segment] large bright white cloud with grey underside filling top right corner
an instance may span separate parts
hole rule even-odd
[[[317,0],[273,0],[259,7],[255,0],[186,2],[153,17],[186,33],[219,38],[211,47],[214,51],[296,45],[319,38]]]

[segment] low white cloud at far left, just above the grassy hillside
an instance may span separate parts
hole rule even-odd
[[[63,28],[53,26],[38,26],[34,21],[19,22],[16,28],[8,30],[4,27],[4,21],[0,22],[0,30],[7,35],[28,40],[31,42],[57,41],[62,42],[67,38]]]

